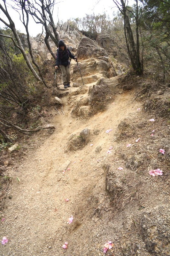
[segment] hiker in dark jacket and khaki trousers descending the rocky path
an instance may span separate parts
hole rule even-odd
[[[74,56],[70,50],[66,47],[66,44],[63,40],[60,40],[58,42],[58,49],[57,49],[57,55],[56,55],[56,63],[55,63],[55,69],[60,66],[62,71],[62,80],[64,84],[64,88],[70,86],[70,61],[69,58],[73,60],[77,60],[77,57]]]

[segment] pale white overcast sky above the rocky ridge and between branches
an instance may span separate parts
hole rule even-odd
[[[3,1],[0,0],[0,2],[2,3]],[[58,22],[58,18],[59,18],[59,21],[62,20],[65,22],[70,18],[83,18],[86,16],[86,14],[93,14],[93,12],[96,15],[99,13],[102,14],[105,12],[107,15],[111,17],[114,11],[115,12],[118,11],[118,9],[115,7],[115,4],[113,3],[112,0],[63,0],[63,1],[56,0],[56,2],[58,3],[56,4],[56,7],[55,7],[56,9],[53,12],[53,19],[55,23]],[[129,5],[132,4],[133,2],[134,2],[133,0],[129,0]],[[2,17],[2,12],[0,13],[0,15]],[[21,32],[26,33],[25,28],[23,27],[22,23],[19,21],[19,16],[17,15],[17,13],[12,11],[11,16],[12,16],[12,20],[15,23],[16,28]],[[2,23],[0,23],[0,26],[4,27]],[[30,20],[29,32],[30,32],[30,36],[36,36],[38,33],[42,32],[42,25],[37,25],[34,23],[34,21]]]

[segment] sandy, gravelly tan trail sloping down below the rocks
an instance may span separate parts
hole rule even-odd
[[[68,96],[63,98],[64,115],[55,115],[55,109],[52,110],[50,124],[56,127],[54,133],[46,136],[42,132],[37,148],[29,149],[26,159],[11,170],[12,199],[8,200],[1,225],[1,236],[7,236],[9,242],[1,246],[0,255],[103,255],[101,246],[109,239],[108,215],[102,219],[93,217],[88,205],[95,200],[94,195],[100,203],[105,200],[102,164],[110,157],[109,147],[116,147],[114,133],[120,121],[135,116],[139,103],[132,99],[133,92],[117,93],[107,110],[84,120],[71,116]],[[87,146],[68,151],[70,135],[85,128],[91,133]],[[112,131],[106,133],[108,129]],[[99,153],[95,151],[97,146],[102,148]],[[70,170],[63,174],[60,169],[67,160],[71,162]],[[73,223],[69,225],[71,215]],[[68,249],[64,250],[62,245],[66,241]]]

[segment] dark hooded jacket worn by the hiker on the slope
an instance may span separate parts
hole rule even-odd
[[[69,58],[74,60],[74,55],[70,52],[68,48],[65,47],[64,51],[58,47],[57,55],[56,55],[56,63],[55,66],[64,65],[65,67],[69,65]]]

